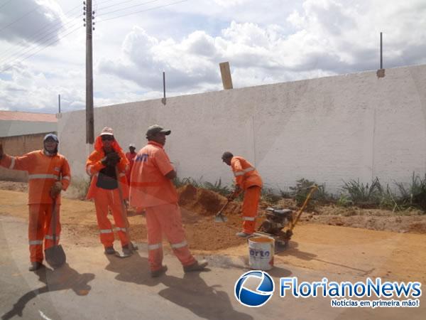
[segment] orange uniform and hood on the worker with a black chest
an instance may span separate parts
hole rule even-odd
[[[129,238],[126,233],[126,221],[124,220],[124,213],[122,212],[122,201],[129,198],[129,186],[126,180],[126,170],[128,169],[129,161],[127,161],[123,150],[116,140],[112,142],[112,148],[120,156],[120,161],[116,166],[119,171],[119,177],[116,177],[117,183],[119,184],[117,184],[116,188],[107,189],[97,186],[99,171],[106,168],[106,166],[102,164],[105,152],[101,136],[97,137],[94,142],[94,151],[90,154],[86,162],[86,172],[89,176],[92,176],[89,191],[87,192],[87,199],[94,199],[99,227],[99,238],[104,247],[112,247],[114,244],[114,231],[108,219],[109,210],[111,210],[112,216],[114,217],[114,223],[121,241],[121,246],[129,243]]]

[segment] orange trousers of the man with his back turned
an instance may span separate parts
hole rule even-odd
[[[163,233],[183,266],[192,265],[191,255],[185,240],[182,215],[178,203],[145,208],[148,231],[148,262],[151,271],[159,270],[163,263]]]

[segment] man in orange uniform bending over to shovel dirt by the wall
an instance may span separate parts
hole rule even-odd
[[[243,231],[236,233],[236,236],[247,238],[256,227],[256,215],[258,211],[259,198],[261,197],[262,178],[258,171],[242,156],[234,156],[231,152],[224,152],[222,161],[231,169],[235,176],[235,191],[228,197],[234,200],[241,192],[244,192],[242,208]]]

